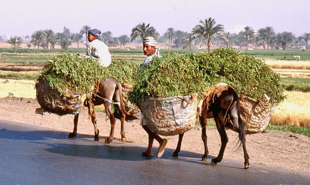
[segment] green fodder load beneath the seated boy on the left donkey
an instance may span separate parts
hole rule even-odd
[[[95,82],[108,77],[114,77],[120,83],[132,83],[138,67],[134,62],[113,60],[108,68],[103,68],[91,58],[60,54],[47,61],[36,83],[46,80],[52,88],[58,88],[61,94],[65,94],[66,89],[88,94],[93,91]]]

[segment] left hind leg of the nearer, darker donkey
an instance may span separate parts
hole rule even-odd
[[[218,162],[221,162],[223,159],[224,151],[228,142],[228,137],[224,127],[224,119],[226,114],[223,112],[214,113],[214,120],[216,123],[216,128],[219,131],[219,136],[221,137],[221,149],[219,150],[219,155],[211,160],[212,165],[216,165]]]

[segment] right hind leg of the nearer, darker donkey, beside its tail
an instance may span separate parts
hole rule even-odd
[[[239,123],[239,120],[238,120],[238,111],[237,111],[237,107],[232,107],[231,111],[229,112],[229,116],[230,116],[230,120],[232,121],[232,124],[234,125],[234,127],[236,128],[238,134],[239,134],[239,139],[240,139],[240,136],[241,134],[243,133],[244,134],[244,131],[242,131],[241,129],[244,129],[243,127],[240,128],[238,123]],[[240,118],[241,119],[241,118]],[[243,123],[241,123],[243,124]],[[244,140],[243,142],[240,141],[241,144],[242,144],[242,148],[243,148],[243,155],[244,155],[244,169],[248,169],[250,168],[250,163],[249,163],[249,155],[246,151],[246,139],[244,137]]]

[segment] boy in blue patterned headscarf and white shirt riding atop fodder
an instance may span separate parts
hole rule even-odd
[[[108,46],[99,40],[100,34],[101,31],[98,29],[88,31],[87,40],[89,41],[89,44],[86,49],[86,55],[80,57],[92,58],[105,68],[111,64],[111,54]]]

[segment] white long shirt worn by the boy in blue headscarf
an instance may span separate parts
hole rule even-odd
[[[98,39],[88,44],[86,55],[82,55],[82,58],[93,58],[102,67],[108,67],[111,64],[111,54],[108,46]]]

